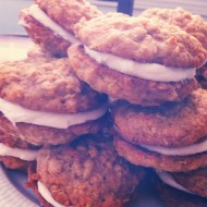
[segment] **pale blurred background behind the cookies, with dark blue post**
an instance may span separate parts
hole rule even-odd
[[[132,15],[138,15],[143,10],[149,8],[182,7],[192,13],[200,14],[207,20],[207,0],[89,0],[102,12],[123,11]],[[22,8],[33,4],[33,0],[0,0],[0,35],[26,35],[25,31],[17,24]]]

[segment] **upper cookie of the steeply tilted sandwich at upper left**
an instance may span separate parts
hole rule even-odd
[[[56,23],[73,34],[74,25],[84,16],[90,20],[101,12],[85,0],[36,0],[39,8]]]

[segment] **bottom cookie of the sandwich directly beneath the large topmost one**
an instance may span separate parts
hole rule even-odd
[[[120,136],[114,138],[118,154],[136,166],[155,168],[158,171],[187,172],[207,167],[207,153],[192,156],[166,156],[133,145]]]

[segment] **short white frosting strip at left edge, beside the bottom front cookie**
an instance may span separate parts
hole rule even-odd
[[[37,151],[34,149],[20,149],[20,148],[11,148],[7,145],[0,143],[0,156],[11,156],[15,158],[20,158],[26,161],[33,161],[37,158]]]

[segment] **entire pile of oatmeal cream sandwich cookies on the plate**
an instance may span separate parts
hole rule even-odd
[[[207,205],[202,17],[36,0],[20,23],[38,50],[0,65],[0,160],[42,206],[127,206],[148,169],[167,206]]]

